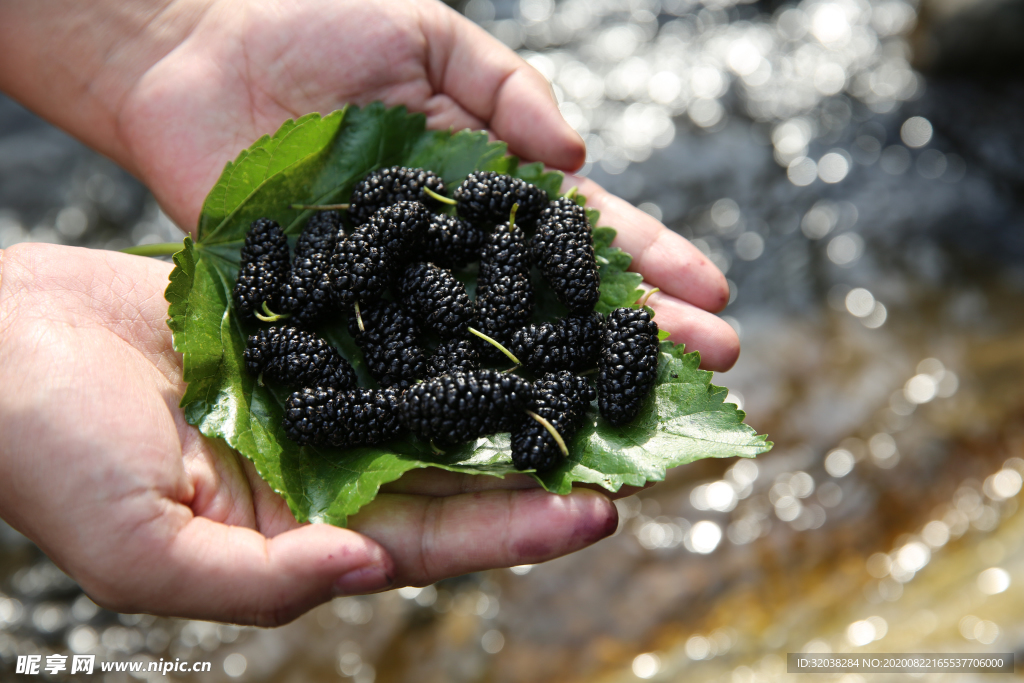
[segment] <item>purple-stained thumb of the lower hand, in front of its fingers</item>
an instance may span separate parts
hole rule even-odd
[[[308,524],[267,539],[203,517],[131,566],[87,592],[120,611],[257,626],[286,624],[338,595],[384,590],[394,575],[387,552],[348,529]]]

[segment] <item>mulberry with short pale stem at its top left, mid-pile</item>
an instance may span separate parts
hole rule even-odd
[[[427,371],[416,321],[393,301],[379,301],[348,317],[348,332],[362,349],[370,374],[382,387],[408,387]]]

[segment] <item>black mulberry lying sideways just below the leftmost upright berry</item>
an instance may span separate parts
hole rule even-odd
[[[321,385],[339,391],[358,386],[355,371],[325,340],[296,328],[274,327],[249,336],[243,354],[251,375],[285,386]]]

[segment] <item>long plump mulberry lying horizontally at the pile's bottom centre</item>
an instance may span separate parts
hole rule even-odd
[[[477,370],[410,387],[398,404],[402,424],[426,439],[462,443],[509,431],[534,401],[534,385],[515,375]]]

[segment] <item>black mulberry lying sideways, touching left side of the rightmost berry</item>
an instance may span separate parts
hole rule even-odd
[[[594,368],[601,353],[600,313],[570,315],[517,330],[509,350],[535,373]]]

